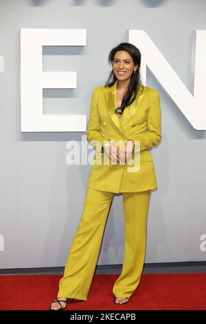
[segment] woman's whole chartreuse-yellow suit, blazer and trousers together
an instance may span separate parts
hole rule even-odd
[[[155,89],[145,87],[119,119],[114,113],[116,86],[117,81],[111,88],[99,87],[93,91],[87,139],[96,150],[94,159],[99,161],[102,156],[97,153],[104,140],[139,140],[140,169],[130,173],[126,164],[92,166],[82,217],[67,257],[64,276],[60,279],[58,298],[87,301],[108,210],[117,192],[123,193],[125,246],[122,273],[113,285],[113,294],[130,297],[141,279],[150,191],[157,185],[148,149],[161,139],[160,99]],[[146,126],[147,132],[144,132]],[[100,145],[92,141],[100,141]],[[135,152],[137,150],[138,146],[135,146]]]

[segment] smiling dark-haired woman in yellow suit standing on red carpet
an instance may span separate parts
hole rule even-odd
[[[141,83],[141,53],[135,45],[120,43],[108,60],[113,70],[91,100],[87,139],[96,152],[82,218],[51,310],[65,309],[69,298],[87,301],[115,193],[123,195],[125,235],[122,274],[113,286],[115,303],[128,303],[144,266],[150,191],[157,188],[148,150],[161,139],[160,98]]]

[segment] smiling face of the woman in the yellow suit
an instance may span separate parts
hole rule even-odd
[[[120,81],[124,81],[131,77],[133,70],[137,70],[133,58],[126,50],[119,50],[116,52],[113,60],[113,71],[115,76]],[[121,73],[122,72],[122,73]]]

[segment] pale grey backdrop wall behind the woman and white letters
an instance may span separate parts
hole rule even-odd
[[[65,265],[91,168],[66,163],[67,141],[85,132],[21,132],[20,28],[87,30],[86,46],[43,48],[44,71],[78,76],[74,90],[43,91],[43,112],[86,114],[88,121],[91,92],[111,70],[108,52],[128,41],[128,30],[145,30],[193,94],[192,30],[206,30],[205,10],[204,0],[0,1],[1,269]],[[146,263],[205,261],[205,131],[192,127],[150,70],[146,77],[162,112],[162,141],[151,151],[158,190],[150,199]],[[119,194],[98,264],[122,263],[123,254]]]

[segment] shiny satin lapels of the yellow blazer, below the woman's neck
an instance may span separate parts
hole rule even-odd
[[[121,117],[118,117],[117,114],[115,114],[115,109],[117,108],[117,80],[115,83],[111,86],[111,88],[108,88],[108,92],[105,94],[106,99],[106,109],[108,111],[108,115],[111,118],[111,121],[113,121],[114,125],[117,127],[119,132],[126,136],[124,133],[123,126],[133,117],[135,112],[138,110],[138,106],[141,103],[142,98],[144,97],[144,92],[142,94],[138,94],[137,98],[131,105],[126,107],[124,109],[124,112]]]

